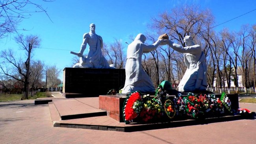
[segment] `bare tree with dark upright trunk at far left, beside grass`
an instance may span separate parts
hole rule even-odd
[[[27,37],[20,35],[16,37],[16,42],[20,45],[20,49],[25,51],[26,59],[17,58],[11,49],[3,50],[0,53],[0,58],[2,59],[0,73],[20,81],[24,85],[24,96],[22,99],[28,99],[30,54],[34,48],[40,45],[40,39],[37,39],[35,35],[29,35]]]

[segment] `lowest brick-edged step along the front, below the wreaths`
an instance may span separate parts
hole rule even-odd
[[[97,116],[96,118],[79,118],[74,120],[61,120],[54,122],[54,127],[66,127],[66,128],[80,128],[80,129],[95,129],[106,131],[122,131],[122,132],[134,132],[145,131],[152,129],[164,129],[172,127],[182,126],[194,126],[202,124],[210,124],[215,122],[228,122],[234,120],[245,119],[244,116],[223,116],[217,118],[206,118],[203,122],[198,120],[180,120],[172,122],[160,122],[160,123],[131,123],[125,124],[124,122],[117,122],[109,116]]]

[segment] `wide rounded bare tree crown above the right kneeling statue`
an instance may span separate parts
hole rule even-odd
[[[186,35],[196,39],[197,35],[213,23],[209,10],[201,10],[197,6],[176,7],[171,13],[161,13],[160,18],[153,18],[151,28],[165,31],[169,37],[182,46]],[[210,23],[210,24],[209,24]]]

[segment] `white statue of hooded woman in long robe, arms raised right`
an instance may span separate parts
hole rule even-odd
[[[122,89],[123,94],[135,90],[140,92],[155,92],[155,88],[150,77],[142,69],[141,58],[143,53],[156,50],[163,40],[160,39],[152,45],[144,44],[145,41],[145,35],[140,33],[136,36],[134,41],[128,45],[125,64],[126,79],[124,88]]]

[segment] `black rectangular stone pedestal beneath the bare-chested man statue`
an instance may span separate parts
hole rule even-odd
[[[121,89],[124,82],[124,69],[65,68],[63,96],[80,98],[105,95],[111,89]]]

